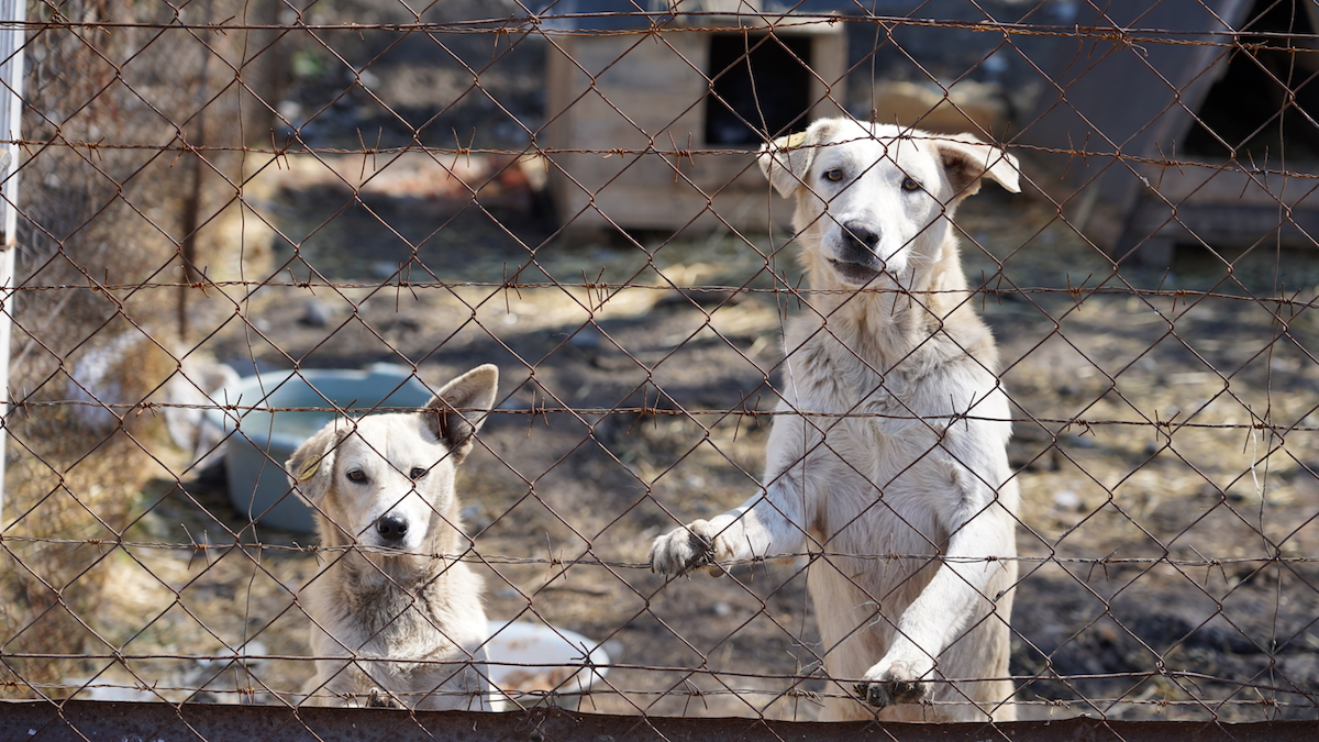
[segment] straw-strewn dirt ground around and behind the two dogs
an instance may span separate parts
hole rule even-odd
[[[270,218],[302,243],[274,246],[276,273],[311,265],[335,287],[264,287],[211,351],[248,371],[415,363],[431,384],[497,363],[500,409],[460,477],[489,617],[603,643],[613,667],[586,710],[814,718],[803,562],[669,584],[644,564],[653,536],[756,487],[768,419],[752,413],[776,401],[799,310],[783,235],[542,243],[526,211],[342,203],[276,191]],[[1115,275],[1051,206],[988,190],[959,223],[1017,415],[1022,716],[1314,716],[1319,322],[1261,297],[1312,300],[1319,260],[1261,250],[1228,280],[1183,251],[1173,273]],[[514,275],[533,285],[499,287]],[[1211,293],[1138,290],[1155,287]],[[136,683],[108,660],[96,683],[174,701],[297,691],[315,557],[285,547],[314,536],[243,529],[215,477],[162,475],[141,511],[104,635],[148,659],[127,660]],[[125,693],[109,687],[84,693]]]

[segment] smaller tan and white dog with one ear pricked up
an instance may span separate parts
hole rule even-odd
[[[454,491],[499,371],[454,379],[417,413],[339,419],[289,459],[327,565],[303,588],[317,673],[309,704],[487,710],[481,580]]]

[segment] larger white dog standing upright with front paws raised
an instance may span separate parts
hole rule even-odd
[[[650,564],[819,552],[809,585],[831,677],[859,680],[884,720],[1012,720],[1008,400],[950,219],[983,177],[1017,193],[1016,160],[967,135],[830,119],[766,145],[760,166],[795,197],[811,287],[786,330],[786,415],[764,490],[656,539]],[[873,714],[845,697],[826,709]]]

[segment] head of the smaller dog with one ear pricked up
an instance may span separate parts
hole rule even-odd
[[[454,475],[484,422],[471,409],[489,409],[497,380],[481,366],[418,413],[336,420],[289,458],[290,479],[351,543],[419,551],[434,528],[458,527]]]

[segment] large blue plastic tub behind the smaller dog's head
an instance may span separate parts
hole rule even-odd
[[[334,408],[419,408],[431,392],[410,368],[377,363],[364,371],[278,371],[239,379],[212,397],[224,405],[252,409],[207,409],[207,420],[227,436],[224,470],[230,499],[239,512],[262,525],[315,531],[311,508],[291,487],[284,462],[303,441],[335,419]],[[317,408],[282,411],[281,408]]]

